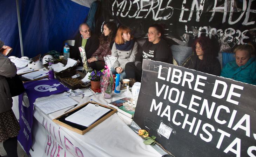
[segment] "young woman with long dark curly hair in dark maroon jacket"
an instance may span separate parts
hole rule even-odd
[[[100,46],[89,58],[88,66],[95,70],[101,70],[105,66],[104,57],[111,55],[111,48],[116,34],[116,25],[114,22],[106,22],[103,25],[103,32],[100,36]]]

